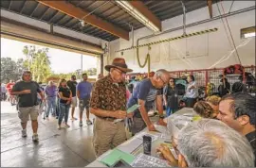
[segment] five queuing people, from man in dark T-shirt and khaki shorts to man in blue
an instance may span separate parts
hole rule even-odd
[[[45,113],[48,120],[49,114],[58,119],[58,129],[64,126],[69,127],[68,117],[71,106],[71,120],[75,121],[75,108],[77,107],[77,99],[79,99],[80,123],[82,126],[82,113],[86,109],[86,124],[92,125],[89,119],[89,100],[92,91],[92,84],[87,82],[87,75],[82,75],[83,80],[77,83],[76,76],[71,76],[71,80],[62,79],[57,87],[53,81],[49,81],[46,88],[33,81],[31,72],[25,71],[22,80],[13,85],[9,91],[12,96],[18,97],[18,116],[21,120],[22,137],[27,137],[27,121],[31,120],[33,135],[32,140],[38,142],[38,116],[46,105]]]

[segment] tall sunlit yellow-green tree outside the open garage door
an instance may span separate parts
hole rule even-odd
[[[48,48],[37,49],[35,46],[25,46],[23,53],[26,56],[24,65],[31,71],[33,80],[46,82],[46,78],[51,75]]]

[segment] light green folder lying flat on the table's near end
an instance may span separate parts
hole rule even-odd
[[[131,164],[135,160],[135,156],[125,153],[117,148],[113,149],[107,156],[101,159],[101,162],[107,166],[115,165],[119,160],[124,160],[126,163]]]

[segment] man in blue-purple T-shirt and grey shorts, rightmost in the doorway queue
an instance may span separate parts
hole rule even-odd
[[[80,123],[82,126],[82,113],[86,109],[86,124],[87,126],[92,125],[90,120],[89,102],[92,92],[92,84],[87,81],[87,74],[82,74],[82,81],[77,86],[77,95],[79,98],[79,109],[80,109]]]

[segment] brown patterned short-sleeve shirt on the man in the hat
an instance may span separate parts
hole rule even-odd
[[[90,108],[105,110],[126,109],[126,87],[124,83],[114,83],[111,76],[98,80],[91,94]]]

